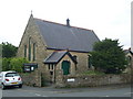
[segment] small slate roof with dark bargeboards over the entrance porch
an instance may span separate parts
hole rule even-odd
[[[49,64],[49,63],[55,64],[55,63],[59,63],[66,54],[70,56],[70,58],[71,58],[74,63],[76,63],[76,62],[74,61],[74,58],[71,56],[71,54],[70,54],[69,52],[66,52],[66,51],[53,52],[50,56],[48,56],[48,57],[43,61],[43,63],[44,63],[44,64]]]

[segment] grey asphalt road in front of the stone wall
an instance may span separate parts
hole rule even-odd
[[[131,97],[131,94],[130,85],[66,89],[23,86],[2,90],[2,97]]]

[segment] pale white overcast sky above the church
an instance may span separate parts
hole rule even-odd
[[[19,46],[31,10],[34,18],[90,29],[100,40],[131,46],[132,0],[1,0],[0,43]]]

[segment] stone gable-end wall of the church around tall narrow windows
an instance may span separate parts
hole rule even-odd
[[[40,31],[38,26],[34,23],[33,18],[31,16],[29,19],[28,25],[24,30],[23,36],[21,38],[17,57],[24,57],[24,45],[27,45],[27,59],[29,59],[29,38],[31,38],[31,61],[30,63],[37,63],[38,64],[38,70],[40,73],[45,73],[45,66],[43,65],[43,59],[48,56],[45,43],[43,41],[43,37],[40,35]],[[33,61],[33,44],[35,43],[35,61]],[[33,77],[35,76],[35,73]],[[37,75],[38,76],[38,75]],[[43,76],[43,75],[42,75]],[[31,75],[31,78],[33,78]],[[24,76],[27,79],[27,77]]]

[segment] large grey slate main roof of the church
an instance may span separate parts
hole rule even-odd
[[[100,40],[92,30],[66,26],[34,18],[48,48],[91,52]]]

